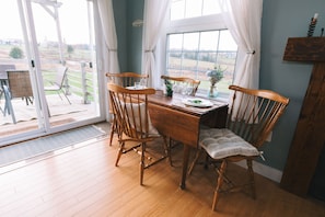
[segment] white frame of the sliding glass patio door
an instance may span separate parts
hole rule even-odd
[[[106,113],[105,113],[106,105],[105,104],[107,101],[102,100],[102,99],[106,99],[105,91],[103,90],[105,77],[103,76],[104,73],[101,71],[101,67],[97,67],[97,72],[96,72],[97,77],[96,78],[97,78],[97,85],[98,85],[97,89],[98,89],[98,99],[100,99],[98,100],[98,110],[100,110],[98,115],[95,117],[92,117],[90,119],[85,119],[85,121],[80,121],[80,122],[55,126],[55,127],[50,126],[48,116],[45,115],[45,114],[48,114],[48,107],[47,107],[45,93],[39,91],[39,90],[44,90],[44,82],[43,82],[42,75],[39,73],[40,59],[39,59],[38,48],[36,46],[37,38],[36,38],[36,30],[34,26],[33,10],[31,8],[31,5],[33,3],[32,1],[33,0],[19,0],[16,2],[19,4],[19,13],[21,16],[23,37],[25,41],[26,56],[27,56],[27,59],[30,60],[28,69],[30,69],[31,78],[32,78],[31,79],[32,85],[36,87],[36,88],[34,88],[35,90],[33,89],[34,96],[35,96],[35,99],[38,99],[38,100],[35,100],[35,105],[37,107],[38,128],[34,129],[34,130],[22,133],[22,134],[4,137],[4,139],[1,139],[0,146],[2,144],[8,145],[11,142],[18,142],[18,141],[25,140],[25,139],[36,138],[39,136],[46,136],[49,134],[54,134],[54,133],[58,133],[58,132],[62,132],[62,130],[67,130],[67,129],[106,121]],[[85,1],[88,1],[88,0],[85,0]],[[92,2],[93,2],[93,7],[95,7],[96,0],[92,0]],[[94,31],[95,31],[94,32],[94,41],[101,42],[101,36],[98,36],[98,34],[96,34],[96,32],[101,32],[101,31],[98,31],[98,25],[96,24],[98,14],[96,14],[95,11],[96,10],[93,10]],[[30,26],[30,27],[27,27],[27,26]],[[28,37],[28,35],[30,35],[30,37]],[[26,43],[30,41],[32,42],[32,45],[30,45],[30,43]],[[96,45],[95,45],[95,49],[96,48],[98,48],[98,43],[96,43]],[[97,61],[98,61],[98,59],[100,60],[103,59],[101,49],[98,49],[96,52],[95,58],[97,59]],[[32,66],[32,62],[31,62],[32,59],[34,60],[34,67]],[[98,66],[101,66],[101,64]],[[43,110],[42,110],[42,107],[43,107]],[[43,117],[45,117],[45,118],[43,118]]]

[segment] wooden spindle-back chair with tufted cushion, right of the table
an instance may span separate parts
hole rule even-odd
[[[254,90],[239,85],[230,85],[229,89],[233,92],[224,128],[200,129],[200,150],[205,150],[214,159],[212,164],[216,165],[218,173],[212,210],[217,207],[221,192],[242,190],[246,193],[246,190],[251,189],[252,196],[255,198],[253,159],[262,157],[259,147],[264,145],[289,103],[288,98],[270,90]],[[199,152],[197,151],[194,163]],[[206,159],[208,162],[209,158]],[[227,165],[229,162],[241,160],[246,161],[248,182],[239,185],[227,176]],[[222,187],[223,182],[227,187]]]

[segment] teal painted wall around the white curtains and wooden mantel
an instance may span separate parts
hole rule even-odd
[[[114,3],[120,0],[115,0]],[[126,34],[118,38],[120,44],[126,43],[121,56],[127,56],[125,69],[141,70],[142,27],[131,26],[132,20],[142,18],[143,0],[126,0],[126,13],[123,21],[116,22],[117,27],[125,25]],[[322,10],[323,11],[322,11]],[[283,170],[299,118],[300,108],[309,84],[312,65],[283,61],[283,52],[288,37],[306,36],[311,18],[320,13],[315,30],[318,36],[325,27],[324,0],[264,0],[262,21],[262,59],[260,59],[260,89],[270,89],[290,98],[290,105],[274,130],[271,141],[264,146],[266,161],[262,163]]]

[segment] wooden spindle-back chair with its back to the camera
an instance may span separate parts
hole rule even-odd
[[[150,121],[148,95],[154,94],[155,90],[151,88],[129,90],[112,82],[107,83],[107,90],[111,107],[116,119],[119,142],[115,165],[118,165],[121,155],[135,150],[141,156],[140,185],[143,185],[143,173],[146,169],[165,158],[171,159],[166,137],[160,135]],[[162,139],[163,142],[156,139]],[[132,147],[127,147],[129,141],[131,141]],[[159,147],[162,146],[160,148],[161,152],[159,151],[160,153],[153,148],[156,145]],[[149,152],[152,155],[148,155]]]

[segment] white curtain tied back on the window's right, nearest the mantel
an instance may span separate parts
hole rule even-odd
[[[234,84],[258,89],[263,0],[219,0],[222,18],[239,45]]]

